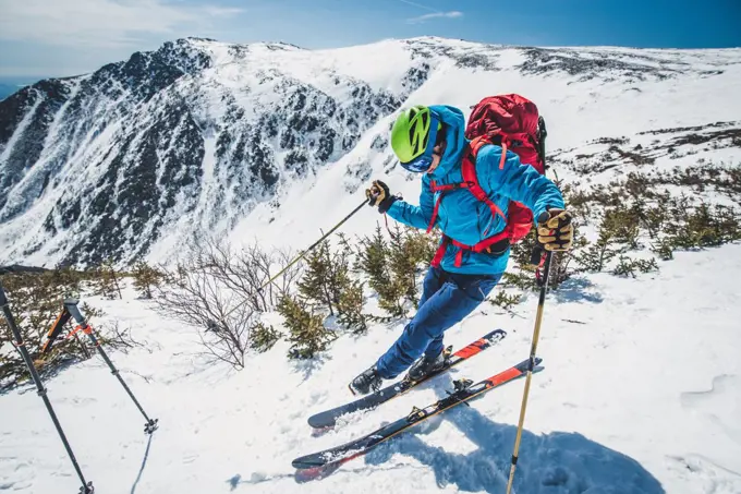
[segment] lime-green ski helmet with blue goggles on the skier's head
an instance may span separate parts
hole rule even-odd
[[[429,108],[417,105],[401,112],[391,128],[391,147],[409,171],[426,171],[433,162],[438,118]]]

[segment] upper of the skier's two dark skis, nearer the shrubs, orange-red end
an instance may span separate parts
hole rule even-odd
[[[502,338],[505,338],[505,336],[507,336],[507,333],[505,333],[502,329],[495,329],[488,335],[485,335],[484,337],[477,339],[476,341],[467,345],[466,347],[461,348],[455,353],[452,353],[449,357],[448,364],[445,368],[440,369],[437,372],[428,374],[427,376],[425,376],[424,379],[411,381],[409,378],[404,378],[403,381],[391,384],[385,387],[384,389],[364,396],[363,398],[352,401],[350,403],[341,405],[337,408],[332,408],[331,410],[326,410],[316,413],[308,418],[308,424],[316,429],[330,427],[336,424],[337,419],[341,415],[352,413],[359,410],[370,410],[373,408],[376,408],[377,406],[390,400],[391,398],[396,398],[397,396],[403,395],[404,393],[424,383],[425,381],[430,379],[436,375],[440,375],[444,372],[447,372],[451,368],[458,365],[459,363],[463,362],[466,359],[470,359],[473,356],[478,354],[479,352],[486,350],[493,345],[498,344]]]

